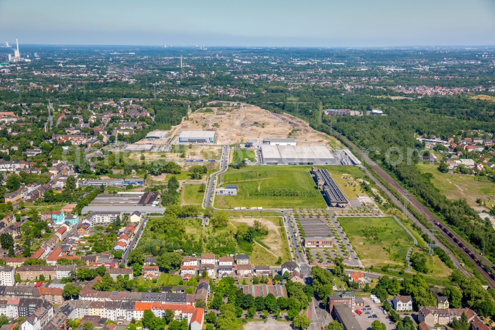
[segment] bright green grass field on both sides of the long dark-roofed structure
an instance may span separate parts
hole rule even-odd
[[[347,183],[365,176],[356,166],[326,165],[348,199],[356,199],[362,189]],[[216,196],[215,207],[325,208],[326,203],[316,190],[308,165],[246,166],[229,169],[223,174],[224,184],[237,184],[237,196]]]

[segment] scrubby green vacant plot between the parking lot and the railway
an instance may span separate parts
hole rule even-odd
[[[393,218],[338,220],[365,266],[397,268],[406,265],[407,251],[414,241]]]

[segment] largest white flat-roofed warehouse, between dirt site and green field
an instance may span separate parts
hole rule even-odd
[[[325,146],[277,146],[262,145],[261,161],[265,165],[338,165]]]

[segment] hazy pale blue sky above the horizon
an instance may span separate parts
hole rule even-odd
[[[495,0],[0,0],[0,42],[495,45]]]

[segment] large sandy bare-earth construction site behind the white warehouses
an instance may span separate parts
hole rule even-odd
[[[273,113],[245,103],[225,103],[221,108],[198,109],[171,131],[178,135],[185,130],[215,130],[218,134],[217,143],[221,145],[239,143],[242,138],[261,142],[263,138],[292,137],[301,145],[326,145],[331,139],[297,117]]]

